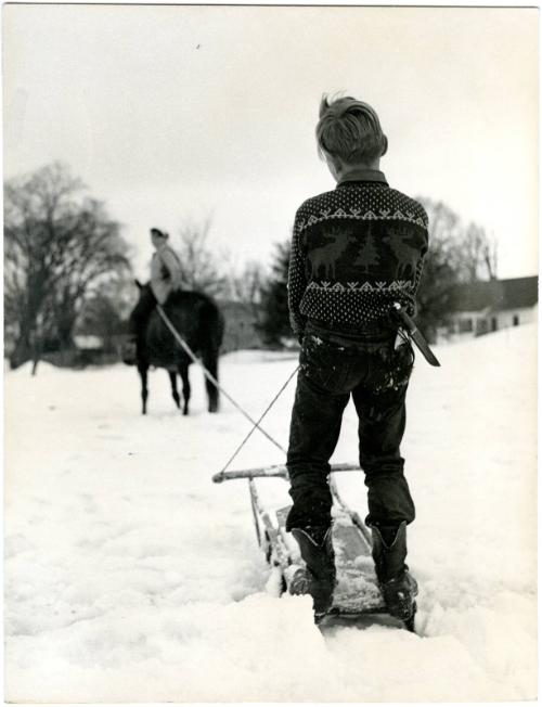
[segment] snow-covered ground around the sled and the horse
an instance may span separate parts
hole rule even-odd
[[[121,364],[7,373],[5,691],[18,702],[517,700],[537,693],[537,329],[421,357],[403,454],[417,505],[418,634],[319,631],[273,594],[246,481],[214,485],[249,428],[227,401],[191,415]],[[296,365],[238,352],[224,387],[258,416]],[[266,420],[287,441],[292,383]],[[356,462],[349,406],[334,460]],[[283,462],[255,434],[235,468]],[[278,479],[278,485],[286,485]],[[343,474],[364,512],[361,474]],[[266,589],[267,588],[267,589]]]

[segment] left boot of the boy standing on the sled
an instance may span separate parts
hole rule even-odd
[[[297,540],[301,557],[307,565],[308,590],[312,596],[314,621],[318,624],[330,609],[335,589],[336,570],[332,529],[327,529],[321,543],[301,528],[293,528],[292,535]]]

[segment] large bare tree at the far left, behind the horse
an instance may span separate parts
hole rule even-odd
[[[68,347],[85,299],[129,269],[119,224],[60,163],[4,183],[4,303],[12,368]]]

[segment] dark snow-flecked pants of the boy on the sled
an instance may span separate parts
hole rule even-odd
[[[294,501],[287,529],[331,523],[330,459],[350,394],[359,417],[360,466],[369,488],[366,523],[387,527],[411,523],[414,503],[399,445],[412,347],[395,349],[389,335],[353,344],[322,336],[307,334],[302,340],[287,454]]]

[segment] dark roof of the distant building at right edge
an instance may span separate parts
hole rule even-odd
[[[538,277],[468,282],[452,291],[453,311],[525,309],[539,300]]]

